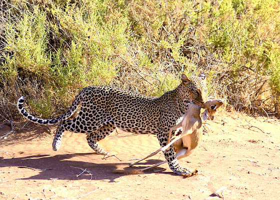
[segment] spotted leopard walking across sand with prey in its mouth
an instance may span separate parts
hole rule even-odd
[[[161,96],[148,96],[123,90],[112,85],[93,85],[81,89],[70,107],[62,115],[53,119],[37,118],[23,107],[25,100],[17,100],[18,111],[28,120],[38,124],[56,124],[52,149],[57,151],[64,131],[86,134],[88,145],[97,154],[108,154],[98,141],[108,136],[116,128],[133,133],[156,134],[161,147],[168,141],[168,131],[182,119],[188,105],[185,100],[195,104],[206,101],[206,75],[204,73],[180,76],[179,85]],[[79,107],[77,116],[68,119]],[[175,133],[175,131],[174,131]],[[173,133],[173,134],[174,134]],[[178,175],[189,174],[175,156],[172,146],[163,151],[169,168]]]

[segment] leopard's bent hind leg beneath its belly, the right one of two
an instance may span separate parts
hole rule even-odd
[[[103,154],[106,155],[109,152],[103,150],[99,144],[97,143],[101,139],[105,138],[107,135],[109,135],[111,132],[115,130],[115,126],[112,124],[106,124],[100,127],[98,130],[89,133],[86,136],[86,140],[88,145],[97,153],[97,154]]]

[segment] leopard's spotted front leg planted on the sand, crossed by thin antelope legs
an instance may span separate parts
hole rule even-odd
[[[165,128],[166,130],[168,128]],[[158,133],[157,133],[157,139],[159,141],[159,144],[161,147],[165,146],[167,144],[168,141],[168,131],[164,131],[163,128],[161,128]],[[178,175],[187,175],[190,173],[190,170],[186,167],[181,167],[178,163],[178,160],[175,156],[175,151],[173,149],[173,147],[170,147],[169,150],[165,150],[163,151],[163,154],[168,162],[168,165],[170,167],[170,169]]]

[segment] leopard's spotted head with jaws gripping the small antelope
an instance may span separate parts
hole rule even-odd
[[[187,77],[184,73],[181,75],[182,91],[185,99],[193,100],[195,104],[206,102],[206,75],[201,73],[199,76]]]

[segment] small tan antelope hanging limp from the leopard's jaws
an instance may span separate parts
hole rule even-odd
[[[208,100],[205,103],[200,104],[200,105],[190,103],[188,110],[185,112],[185,114],[182,118],[182,121],[180,123],[178,123],[177,125],[173,126],[172,128],[170,128],[169,135],[168,135],[168,144],[166,146],[156,150],[155,152],[151,153],[150,155],[148,155],[147,157],[145,157],[143,159],[146,159],[152,155],[155,155],[160,150],[162,150],[162,151],[164,151],[166,149],[168,150],[169,146],[171,144],[177,150],[176,154],[175,154],[177,159],[190,155],[193,152],[194,148],[199,144],[199,142],[201,140],[201,136],[202,136],[202,128],[201,128],[202,120],[200,118],[200,108],[205,108],[204,112],[202,113],[203,120],[206,120],[208,118],[208,116],[211,119],[213,119],[214,115],[216,114],[216,109],[218,107],[220,107],[222,104],[223,104],[223,101],[221,99]],[[171,132],[180,127],[182,127],[183,132],[179,135],[174,135],[172,137],[174,139],[170,142],[170,139],[172,139],[172,138],[170,138]],[[132,166],[143,159],[140,159],[134,163],[131,163],[129,166]],[[157,163],[153,166],[146,167],[142,170],[145,170],[147,168],[151,168],[154,166],[158,166],[159,164],[162,164],[164,162],[166,162],[166,160],[162,161],[160,163]]]

